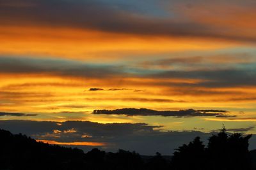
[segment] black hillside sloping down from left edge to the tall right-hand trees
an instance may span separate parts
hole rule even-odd
[[[37,142],[22,134],[12,134],[0,129],[0,169],[167,169],[169,162],[163,157],[148,157],[135,152],[119,150],[106,153],[97,148],[88,153],[77,148],[67,148]],[[164,162],[164,163],[163,163]],[[161,164],[161,165],[158,165]]]

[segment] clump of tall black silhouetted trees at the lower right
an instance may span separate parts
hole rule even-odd
[[[196,137],[180,146],[172,159],[173,169],[241,170],[250,169],[248,140],[252,135],[229,134],[225,127],[209,138],[207,148]]]

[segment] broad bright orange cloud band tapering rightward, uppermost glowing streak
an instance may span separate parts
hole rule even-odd
[[[91,62],[124,59],[125,53],[152,54],[236,46],[235,43],[216,43],[205,39],[157,38],[92,29],[35,26],[1,26],[0,39],[2,54],[61,56],[79,60],[90,59]]]

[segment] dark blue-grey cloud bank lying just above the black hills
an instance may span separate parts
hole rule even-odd
[[[0,128],[19,134],[20,132],[39,140],[52,140],[60,143],[74,141],[108,143],[106,151],[116,152],[118,148],[136,150],[141,154],[154,155],[156,152],[171,155],[175,148],[200,136],[203,141],[211,136],[200,131],[157,131],[159,126],[148,124],[99,124],[88,121],[40,122],[28,120],[0,120]],[[246,131],[253,127],[231,129]],[[171,129],[170,129],[171,130]],[[255,146],[255,138],[250,140]],[[93,146],[95,147],[95,146]],[[79,146],[84,151],[91,150],[87,146]],[[100,146],[99,146],[100,148]]]

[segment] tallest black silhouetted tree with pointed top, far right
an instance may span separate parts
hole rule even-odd
[[[207,159],[212,165],[209,169],[250,169],[248,140],[251,137],[239,133],[228,135],[225,127],[212,135],[207,147]]]

